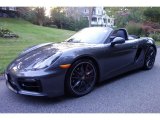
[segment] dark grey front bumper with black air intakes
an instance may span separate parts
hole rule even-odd
[[[66,70],[53,72],[25,72],[23,74],[6,71],[6,85],[17,94],[55,97],[64,94]]]

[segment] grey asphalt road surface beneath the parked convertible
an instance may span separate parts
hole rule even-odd
[[[17,95],[0,78],[1,113],[160,112],[160,49],[150,71],[133,71],[98,85],[80,98]]]

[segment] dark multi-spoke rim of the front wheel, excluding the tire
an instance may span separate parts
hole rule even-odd
[[[93,87],[96,79],[95,68],[89,62],[80,63],[73,69],[70,79],[72,89],[83,94]]]

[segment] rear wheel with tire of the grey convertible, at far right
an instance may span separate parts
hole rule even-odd
[[[154,66],[155,57],[156,57],[156,50],[154,49],[153,46],[149,46],[145,55],[144,69],[146,70],[152,69],[152,67]]]

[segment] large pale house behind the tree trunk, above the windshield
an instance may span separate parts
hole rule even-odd
[[[80,19],[85,17],[89,20],[89,7],[67,7],[65,8],[66,16]],[[114,18],[109,17],[104,7],[93,7],[91,26],[114,26]]]

